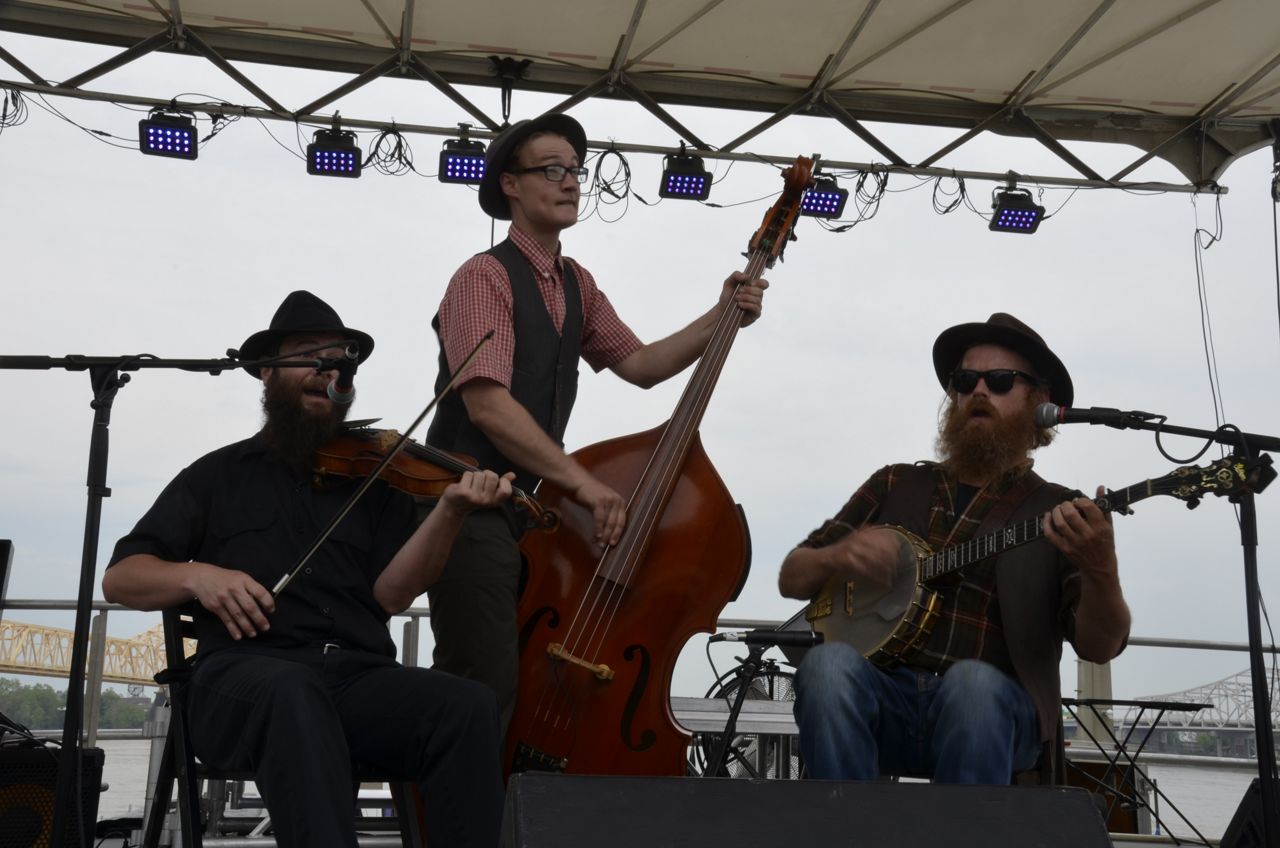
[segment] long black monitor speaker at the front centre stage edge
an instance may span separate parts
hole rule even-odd
[[[1110,848],[1083,789],[526,772],[502,848]]]

